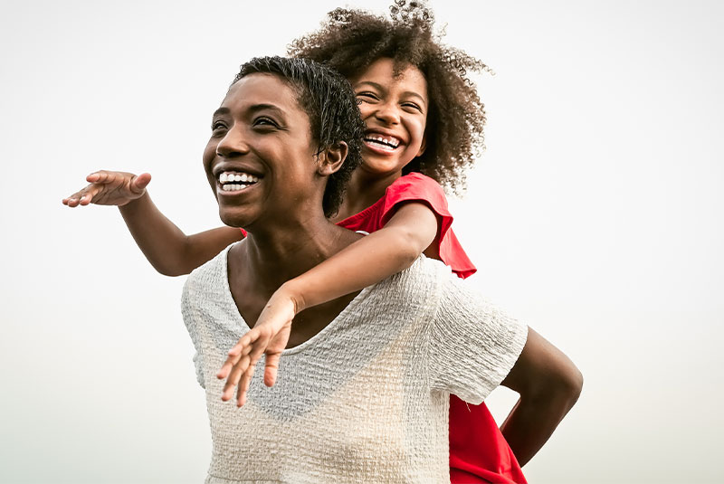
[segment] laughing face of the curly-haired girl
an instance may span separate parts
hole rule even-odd
[[[393,60],[383,57],[350,80],[366,125],[360,169],[378,176],[399,175],[425,148],[427,81],[414,66],[393,73]]]

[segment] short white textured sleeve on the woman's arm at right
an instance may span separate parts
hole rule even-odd
[[[431,389],[481,403],[518,361],[527,338],[526,325],[447,274],[429,333]]]

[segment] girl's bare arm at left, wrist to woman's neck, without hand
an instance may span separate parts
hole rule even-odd
[[[228,244],[242,239],[241,231],[232,227],[186,235],[158,210],[148,192],[119,206],[119,211],[138,248],[154,269],[167,276],[188,274]]]

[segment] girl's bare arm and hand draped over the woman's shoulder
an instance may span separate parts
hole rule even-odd
[[[438,230],[437,215],[426,204],[403,204],[382,229],[282,284],[254,327],[229,351],[229,357],[216,375],[219,379],[227,378],[222,400],[230,400],[238,385],[237,405],[243,405],[253,368],[262,355],[266,355],[264,384],[274,384],[281,352],[289,341],[291,321],[300,311],[364,289],[407,269],[431,246]],[[431,251],[428,255],[437,253],[436,248]]]

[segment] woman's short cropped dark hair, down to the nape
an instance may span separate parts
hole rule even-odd
[[[328,217],[337,213],[352,171],[362,157],[365,123],[359,116],[357,99],[349,82],[329,67],[309,59],[255,57],[242,65],[233,83],[253,73],[269,73],[290,84],[300,108],[310,117],[311,136],[318,143],[317,154],[328,147],[348,146],[347,158],[329,176],[322,206]],[[233,85],[232,83],[232,85]]]

